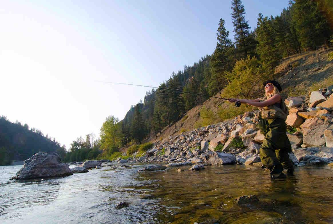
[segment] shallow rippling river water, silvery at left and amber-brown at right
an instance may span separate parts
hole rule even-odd
[[[0,166],[0,223],[333,223],[329,166],[297,167],[295,177],[272,181],[245,165],[179,173],[127,165],[28,181],[9,180],[21,166]],[[236,204],[243,194],[259,202]],[[121,201],[129,207],[117,210]]]

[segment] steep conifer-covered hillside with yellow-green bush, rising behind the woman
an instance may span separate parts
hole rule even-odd
[[[119,134],[112,135],[112,147],[157,137],[166,127],[186,119],[187,111],[208,99],[184,92],[210,96],[221,93],[224,98],[253,98],[262,94],[262,87],[258,84],[285,74],[274,72],[282,60],[322,47],[327,49],[333,44],[332,1],[291,0],[279,16],[258,12],[257,26],[252,29],[246,20],[242,1],[231,0],[230,6],[234,41],[229,39],[225,20],[216,21],[217,43],[212,54],[201,58],[193,66],[173,72],[159,86],[160,89],[147,92],[144,102],[132,106],[124,120],[119,122],[121,130]],[[299,64],[300,61],[289,64],[288,69]],[[206,116],[212,117],[211,114]],[[219,119],[227,117],[225,114],[217,116]]]

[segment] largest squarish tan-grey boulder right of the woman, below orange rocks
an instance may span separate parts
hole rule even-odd
[[[333,125],[324,123],[324,121],[319,118],[305,120],[300,126],[303,130],[303,144],[308,146],[325,145],[324,130],[331,126],[333,127]]]

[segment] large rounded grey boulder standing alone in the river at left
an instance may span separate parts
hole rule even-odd
[[[24,161],[23,167],[11,179],[34,179],[73,175],[67,164],[55,152],[39,152]]]

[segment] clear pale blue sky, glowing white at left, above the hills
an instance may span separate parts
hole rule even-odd
[[[280,15],[288,0],[243,0]],[[219,19],[233,40],[230,1],[1,1],[0,115],[62,144],[122,120],[150,88],[213,53]]]

